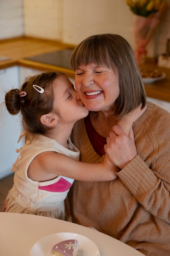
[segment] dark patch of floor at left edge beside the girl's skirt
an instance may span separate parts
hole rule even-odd
[[[2,205],[4,199],[11,187],[13,186],[13,174],[0,180],[0,211],[2,211]]]

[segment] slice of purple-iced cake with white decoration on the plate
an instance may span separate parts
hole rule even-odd
[[[78,242],[75,239],[65,240],[53,246],[51,255],[78,256]]]

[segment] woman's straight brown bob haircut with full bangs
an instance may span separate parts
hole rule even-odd
[[[72,53],[71,67],[76,70],[80,65],[90,63],[105,65],[119,75],[120,94],[114,115],[120,118],[140,103],[144,108],[146,93],[141,73],[132,48],[122,36],[94,35],[79,43]]]

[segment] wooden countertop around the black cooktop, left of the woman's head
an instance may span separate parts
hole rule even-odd
[[[6,61],[1,61],[0,58],[0,69],[19,65],[42,71],[54,70],[63,72],[67,76],[74,78],[75,73],[71,69],[26,59],[31,56],[55,52],[61,49],[74,49],[74,47],[74,45],[64,44],[55,40],[44,40],[25,36],[0,40],[0,57],[9,57]]]

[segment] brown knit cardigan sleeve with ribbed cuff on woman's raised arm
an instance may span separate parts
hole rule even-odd
[[[170,113],[149,108],[135,131],[138,155],[117,175],[146,211],[170,224]]]

